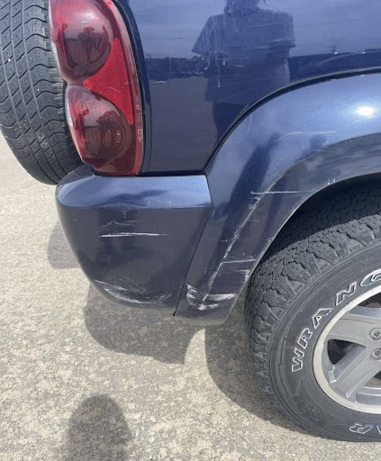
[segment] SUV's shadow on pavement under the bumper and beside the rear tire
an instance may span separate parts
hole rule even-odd
[[[77,267],[74,258],[68,256],[70,250],[59,226],[53,230],[50,243],[48,258],[52,267]],[[72,261],[75,266],[72,266]],[[65,264],[68,266],[65,267]],[[104,348],[122,354],[152,357],[169,364],[184,364],[190,340],[197,331],[205,330],[208,369],[222,392],[262,420],[304,433],[271,408],[253,379],[243,304],[241,296],[222,326],[204,329],[177,321],[171,315],[110,303],[90,286],[84,319],[88,332]]]

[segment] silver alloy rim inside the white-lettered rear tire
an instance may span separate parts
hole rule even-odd
[[[322,330],[313,372],[335,402],[381,414],[381,286],[358,296]]]

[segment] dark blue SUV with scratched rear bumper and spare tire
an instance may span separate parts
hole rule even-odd
[[[108,299],[202,325],[246,289],[255,375],[381,439],[381,3],[4,0],[0,124]]]

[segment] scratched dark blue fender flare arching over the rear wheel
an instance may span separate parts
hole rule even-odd
[[[213,213],[178,316],[224,321],[301,204],[329,185],[381,172],[380,85],[377,74],[300,88],[259,107],[231,133],[206,173]]]

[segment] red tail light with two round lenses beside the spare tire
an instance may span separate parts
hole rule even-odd
[[[143,122],[131,41],[111,0],[50,0],[50,37],[62,77],[71,135],[100,172],[136,175]]]

